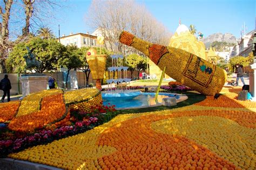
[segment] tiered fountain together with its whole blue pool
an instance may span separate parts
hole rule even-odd
[[[156,93],[142,93],[140,90],[130,90],[127,85],[131,79],[127,78],[128,67],[123,66],[123,55],[112,55],[112,67],[108,67],[110,79],[106,80],[107,89],[102,91],[104,105],[115,105],[116,109],[143,108],[151,106],[161,106],[164,98],[174,98],[175,104],[184,100],[177,94],[159,93],[155,101]],[[110,87],[111,86],[111,87]],[[114,86],[114,88],[113,88]]]

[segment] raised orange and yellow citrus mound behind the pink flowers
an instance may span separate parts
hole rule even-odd
[[[33,132],[46,125],[61,123],[70,116],[69,108],[90,112],[101,102],[97,89],[65,93],[59,89],[44,90],[32,93],[22,101],[1,104],[0,123],[8,121],[8,128],[12,131]]]

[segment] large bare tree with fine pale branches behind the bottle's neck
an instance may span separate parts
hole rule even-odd
[[[132,0],[93,0],[85,19],[92,29],[99,29],[100,34],[111,42],[106,47],[112,51],[135,52],[134,49],[118,43],[123,30],[163,45],[167,45],[171,37],[171,33],[147,11],[145,5]]]

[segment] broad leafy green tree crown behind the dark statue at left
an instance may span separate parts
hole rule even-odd
[[[25,71],[25,60],[23,56],[28,53],[26,46],[36,55],[36,59],[41,62],[39,69],[35,68],[38,73],[44,71],[57,70],[58,59],[63,57],[66,47],[57,42],[56,39],[42,39],[33,37],[27,43],[18,43],[8,57],[9,70],[12,72]]]

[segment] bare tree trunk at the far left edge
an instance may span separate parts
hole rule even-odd
[[[5,57],[6,50],[8,50],[9,45],[9,19],[10,19],[10,10],[13,0],[4,0],[4,9],[0,6],[0,15],[2,22],[0,22],[0,59],[2,72],[6,72],[5,69]]]

